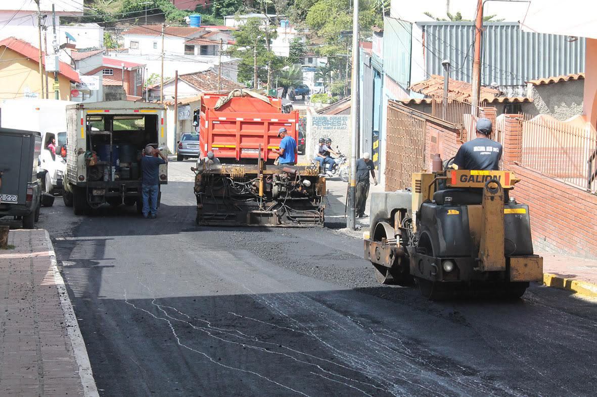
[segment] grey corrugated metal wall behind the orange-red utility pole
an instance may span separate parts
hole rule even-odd
[[[425,69],[429,75],[444,72],[450,60],[452,77],[471,81],[472,22],[418,22],[424,30]],[[481,83],[524,85],[543,76],[584,72],[584,38],[522,32],[516,22],[486,22],[481,54]]]

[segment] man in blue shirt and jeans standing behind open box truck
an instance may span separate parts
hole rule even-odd
[[[159,157],[154,157],[155,155]],[[145,147],[145,156],[141,157],[141,197],[143,199],[143,218],[156,218],[158,212],[159,166],[168,162],[168,157],[151,145]]]

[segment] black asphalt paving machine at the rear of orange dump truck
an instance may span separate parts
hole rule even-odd
[[[206,165],[195,171],[196,223],[323,227],[325,178],[312,166]]]

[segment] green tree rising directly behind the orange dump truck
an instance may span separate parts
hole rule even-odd
[[[226,50],[226,54],[241,58],[238,65],[238,79],[243,82],[253,81],[253,66],[257,59],[257,76],[261,81],[267,80],[267,64],[272,65],[272,72],[282,69],[284,61],[273,51],[267,51],[266,29],[270,40],[276,38],[275,27],[262,26],[260,18],[248,18],[247,23],[232,33],[235,45]]]

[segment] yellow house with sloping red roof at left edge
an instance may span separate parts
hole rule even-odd
[[[0,99],[54,98],[54,73],[45,73],[42,52],[42,75],[39,75],[39,48],[14,37],[0,41]],[[47,76],[47,77],[46,77]],[[71,100],[79,73],[60,61],[57,88],[61,100]]]

